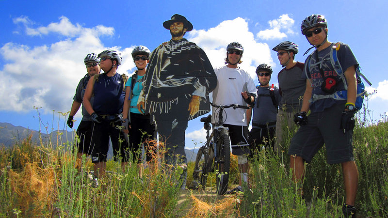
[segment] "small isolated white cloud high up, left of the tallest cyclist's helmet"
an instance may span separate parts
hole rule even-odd
[[[271,29],[259,31],[256,36],[263,40],[286,38],[287,34],[295,33],[292,30],[294,23],[295,21],[288,14],[281,15],[278,19],[268,21]]]

